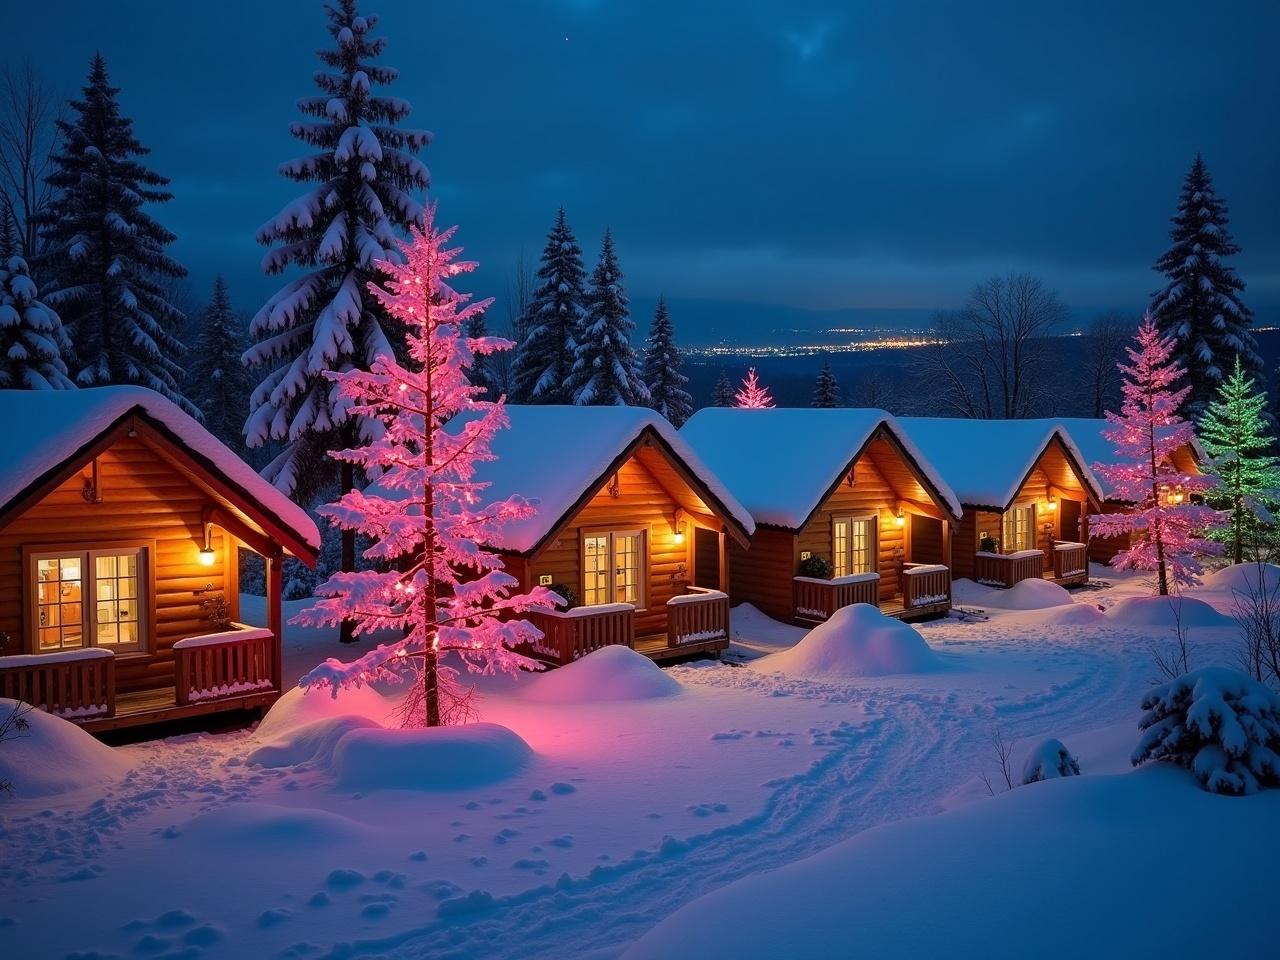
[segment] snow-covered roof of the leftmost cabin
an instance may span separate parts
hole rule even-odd
[[[320,531],[306,511],[175,403],[143,387],[0,390],[0,422],[6,440],[5,456],[0,458],[0,511],[129,413],[165,428],[189,453],[243,492],[250,504],[278,520],[302,543],[319,549]]]

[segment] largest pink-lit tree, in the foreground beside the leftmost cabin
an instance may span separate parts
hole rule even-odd
[[[451,287],[476,266],[448,246],[456,229],[438,230],[435,209],[428,207],[422,229],[413,228],[411,242],[399,244],[404,262],[378,261],[387,284],[369,284],[407,329],[407,365],[381,355],[367,371],[325,374],[349,415],[380,428],[364,445],[330,454],[362,467],[375,483],[320,508],[369,539],[364,556],[375,568],[334,573],[317,588],[320,599],[294,618],[312,626],[349,620],[357,636],[396,634],[397,640],[351,663],[325,660],[301,685],[329,687],[337,696],[371,681],[412,684],[404,726],[471,716],[471,689],[454,663],[480,673],[538,668],[517,648],[536,645],[543,635],[518,614],[553,609],[558,599],[545,588],[513,593],[518,581],[481,545],[534,507],[521,497],[486,503],[488,484],[475,479],[477,465],[495,460],[490,444],[508,420],[503,402],[481,399],[484,388],[472,385],[467,371],[476,356],[512,343],[463,335],[492,301],[471,302],[471,294]],[[445,659],[449,653],[453,659]]]

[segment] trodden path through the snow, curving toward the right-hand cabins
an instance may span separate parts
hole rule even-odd
[[[986,626],[948,622],[924,630],[936,645],[946,636],[968,646],[972,641],[955,637],[980,635]],[[987,759],[991,724],[998,723],[1006,736],[1032,737],[1059,724],[1080,730],[1132,716],[1138,691],[1147,685],[1146,666],[1134,653],[1146,654],[1149,639],[1111,636],[1116,645],[1103,649],[1097,649],[1093,630],[1064,628],[1057,639],[1068,640],[1068,649],[1036,654],[1064,660],[1076,671],[1074,677],[1018,698],[979,692],[966,700],[956,691],[824,685],[727,666],[677,668],[673,673],[685,684],[758,689],[764,696],[810,698],[832,707],[856,703],[870,719],[838,724],[829,733],[837,749],[778,785],[762,815],[664,842],[657,851],[637,852],[585,877],[566,874],[556,883],[504,897],[474,892],[452,901],[434,922],[389,937],[340,943],[324,957],[564,956],[566,931],[572,931],[572,955],[620,952],[709,890],[803,859],[879,823],[936,813],[945,795]],[[974,645],[982,649],[987,643]],[[984,723],[974,723],[975,717]]]

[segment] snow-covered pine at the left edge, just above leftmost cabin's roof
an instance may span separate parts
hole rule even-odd
[[[70,340],[56,311],[40,302],[27,261],[18,255],[17,233],[0,246],[0,388],[74,389],[63,361],[72,353]]]

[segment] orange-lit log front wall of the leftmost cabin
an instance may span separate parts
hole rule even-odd
[[[119,654],[115,662],[120,692],[173,686],[173,644],[212,631],[202,596],[211,585],[238,616],[236,540],[212,529],[218,563],[201,566],[201,512],[215,502],[184,475],[136,438],[122,438],[97,458],[97,495],[84,498],[86,466],[44,499],[0,529],[0,631],[12,639],[6,654],[29,653],[27,608],[29,585],[23,570],[23,547],[83,545],[113,541],[154,541],[147,558],[150,595],[140,604],[146,652]],[[88,575],[88,571],[84,571]],[[233,589],[228,590],[228,585]],[[150,616],[148,616],[150,614]]]

